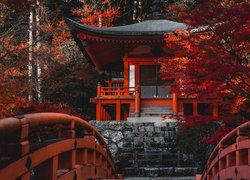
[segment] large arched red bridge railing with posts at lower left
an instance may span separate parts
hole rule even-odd
[[[0,179],[118,179],[100,133],[65,114],[0,120]]]

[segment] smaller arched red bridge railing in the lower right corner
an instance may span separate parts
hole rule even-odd
[[[250,122],[228,133],[210,155],[202,180],[250,179]]]

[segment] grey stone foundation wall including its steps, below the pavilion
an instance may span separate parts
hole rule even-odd
[[[182,154],[175,143],[174,122],[131,123],[90,121],[103,135],[125,176],[192,176],[196,173],[191,155]]]

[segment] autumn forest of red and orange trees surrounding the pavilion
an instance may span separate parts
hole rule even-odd
[[[162,79],[182,95],[219,101],[218,118],[190,116],[180,123],[180,146],[204,161],[212,149],[207,144],[249,120],[249,2],[161,5],[166,19],[189,27],[166,35],[170,54],[156,59]],[[142,22],[152,8],[147,0],[0,1],[0,117],[50,111],[94,119],[90,98],[112,72],[97,71],[85,60],[64,16],[110,27]]]

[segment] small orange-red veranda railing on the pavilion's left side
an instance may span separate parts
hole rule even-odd
[[[134,87],[101,87],[101,97],[131,97],[135,95]]]

